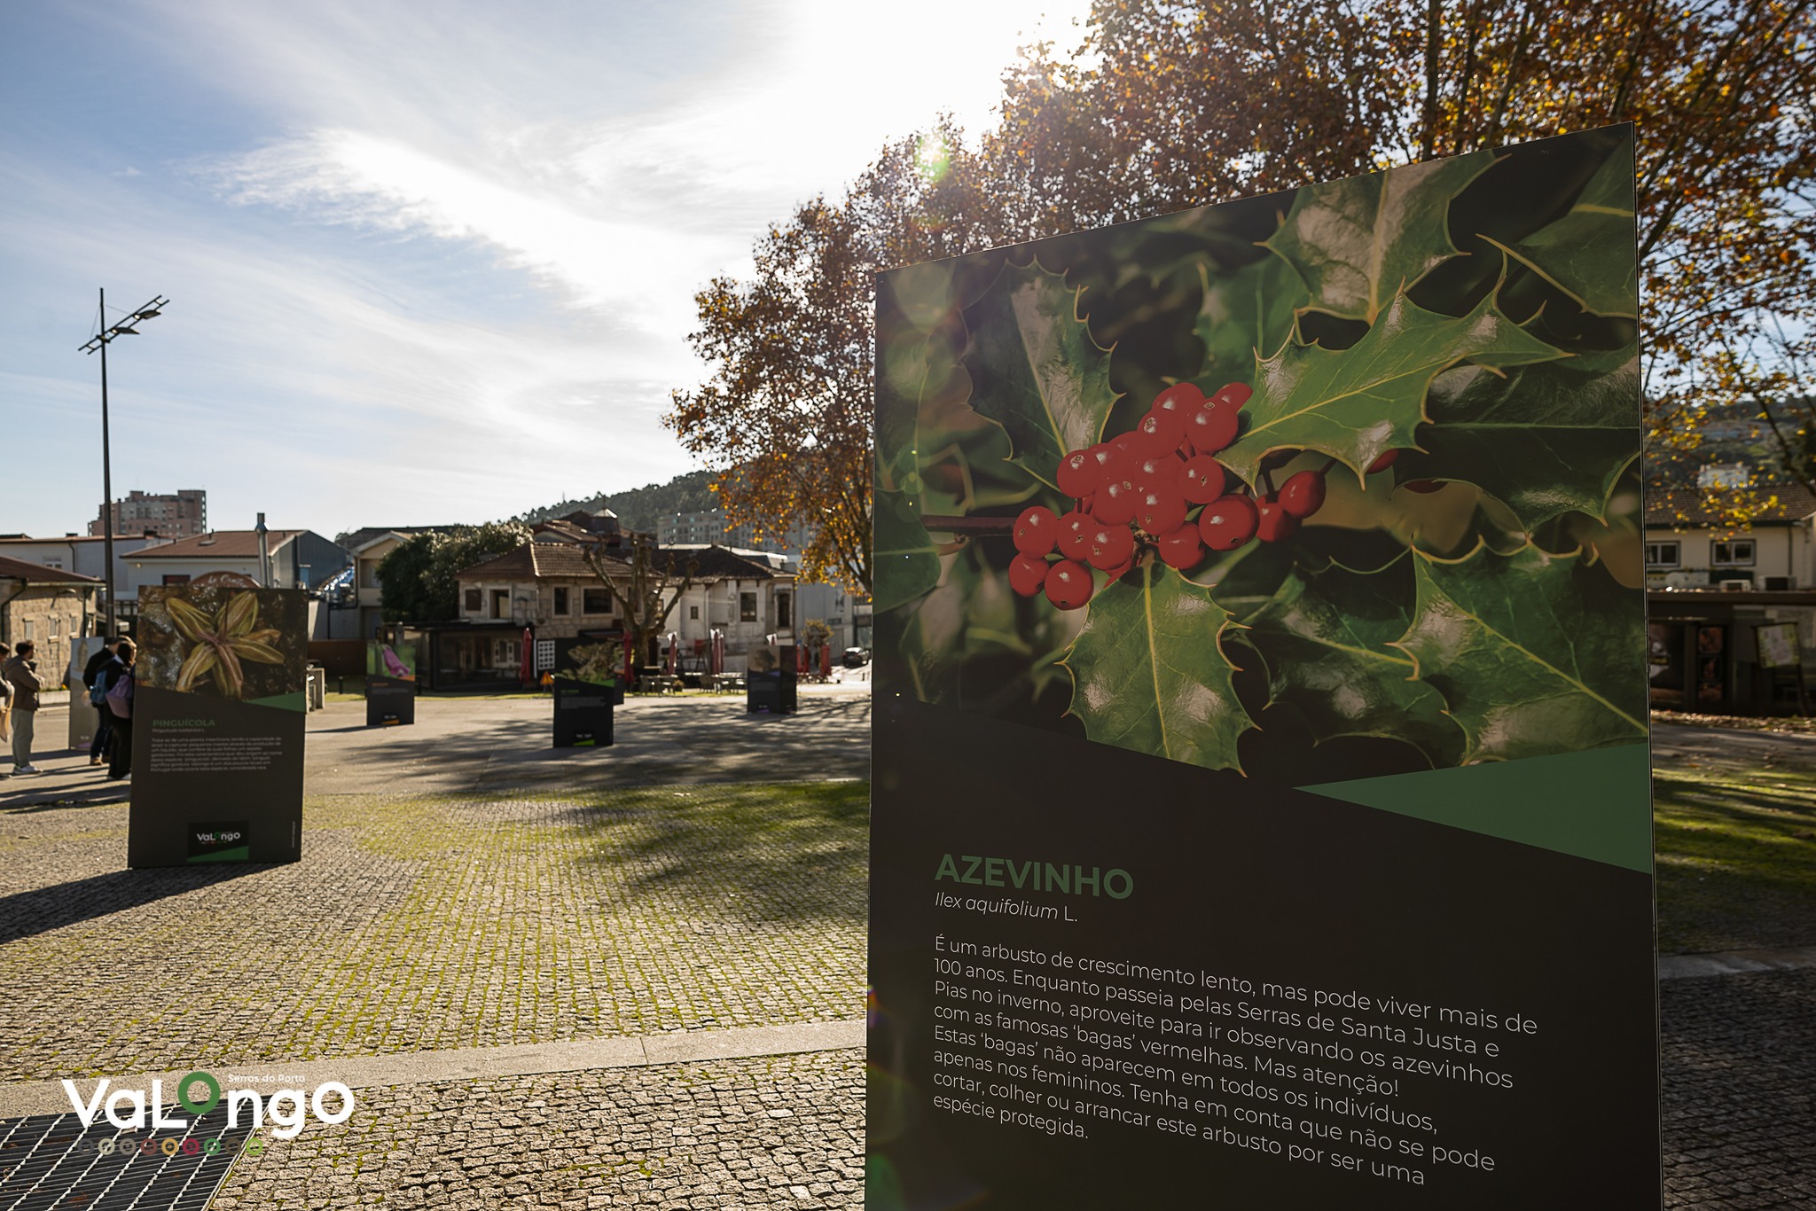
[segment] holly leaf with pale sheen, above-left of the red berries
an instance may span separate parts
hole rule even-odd
[[[1095,445],[1117,401],[1110,352],[1091,340],[1077,301],[1062,276],[1008,265],[964,312],[972,407],[1008,434],[1012,463],[1055,487],[1059,459]]]

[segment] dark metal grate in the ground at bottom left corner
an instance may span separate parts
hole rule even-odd
[[[122,1131],[104,1117],[84,1127],[74,1115],[0,1120],[0,1211],[205,1211],[251,1126],[229,1127],[223,1106],[200,1118],[165,1109],[189,1127]]]

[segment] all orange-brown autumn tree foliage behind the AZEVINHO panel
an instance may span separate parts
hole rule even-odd
[[[1774,403],[1816,448],[1812,94],[1811,0],[1097,0],[1077,47],[1006,73],[975,143],[888,145],[703,290],[712,379],[668,423],[734,519],[804,521],[806,572],[868,590],[877,269],[1633,122],[1654,479],[1687,479],[1711,405]]]

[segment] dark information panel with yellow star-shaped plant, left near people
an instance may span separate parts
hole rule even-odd
[[[301,859],[305,597],[138,590],[129,866]]]

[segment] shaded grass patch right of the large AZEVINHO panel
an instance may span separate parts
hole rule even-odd
[[[1654,770],[1662,953],[1816,944],[1816,773]]]

